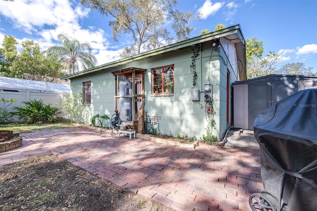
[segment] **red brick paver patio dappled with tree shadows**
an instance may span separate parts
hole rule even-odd
[[[258,149],[181,148],[83,127],[22,136],[0,165],[53,154],[177,211],[251,211],[249,196],[263,189]]]

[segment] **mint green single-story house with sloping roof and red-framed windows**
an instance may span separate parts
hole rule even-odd
[[[220,140],[233,122],[232,83],[246,79],[245,39],[235,25],[61,79],[83,92],[87,124],[119,110],[138,133],[152,119],[162,134],[201,138],[212,121]]]

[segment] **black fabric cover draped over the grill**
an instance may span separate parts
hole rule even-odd
[[[254,122],[262,193],[277,211],[317,211],[317,89],[295,93]]]

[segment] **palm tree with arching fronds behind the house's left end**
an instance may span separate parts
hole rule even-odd
[[[52,56],[65,64],[69,74],[79,71],[78,62],[83,69],[94,67],[97,64],[96,57],[92,54],[89,43],[80,43],[78,40],[59,34],[57,40],[62,46],[52,46],[48,49],[48,56]]]

